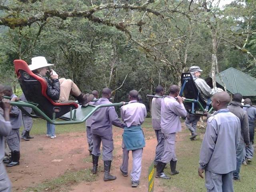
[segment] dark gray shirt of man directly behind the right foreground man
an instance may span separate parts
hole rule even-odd
[[[240,142],[245,142],[245,144],[250,144],[249,139],[249,121],[246,111],[243,110],[242,104],[240,102],[232,101],[228,106],[230,112],[234,113],[241,122],[241,138]]]

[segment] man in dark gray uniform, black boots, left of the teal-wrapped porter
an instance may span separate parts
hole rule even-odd
[[[104,88],[102,90],[102,98],[96,101],[94,105],[110,104],[111,90]],[[91,132],[93,139],[92,149],[92,173],[96,174],[98,168],[98,159],[100,156],[100,143],[102,142],[102,160],[104,161],[104,181],[115,180],[116,176],[110,175],[111,161],[113,158],[112,151],[113,132],[112,125],[124,128],[124,124],[118,119],[118,115],[114,107],[104,107],[98,109],[92,115]]]

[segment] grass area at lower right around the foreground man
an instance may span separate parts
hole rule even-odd
[[[189,132],[185,130],[185,132]],[[170,180],[161,180],[161,184],[167,188],[176,187],[184,192],[205,192],[204,179],[198,176],[198,161],[202,140],[190,141],[189,137],[176,145],[178,158],[177,170],[180,174],[171,176]],[[164,170],[170,175],[170,165]],[[247,166],[241,166],[241,182],[234,182],[235,191],[256,191],[256,161]]]

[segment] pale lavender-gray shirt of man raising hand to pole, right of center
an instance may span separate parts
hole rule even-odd
[[[184,104],[180,104],[174,97],[167,96],[161,101],[161,131],[171,134],[181,131],[180,116],[186,117]]]

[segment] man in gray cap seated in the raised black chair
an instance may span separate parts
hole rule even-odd
[[[192,74],[196,87],[201,94],[203,100],[207,100],[215,93],[214,89],[211,89],[210,86],[205,82],[205,80],[199,78],[203,70],[198,66],[192,66],[189,68],[189,72]]]

